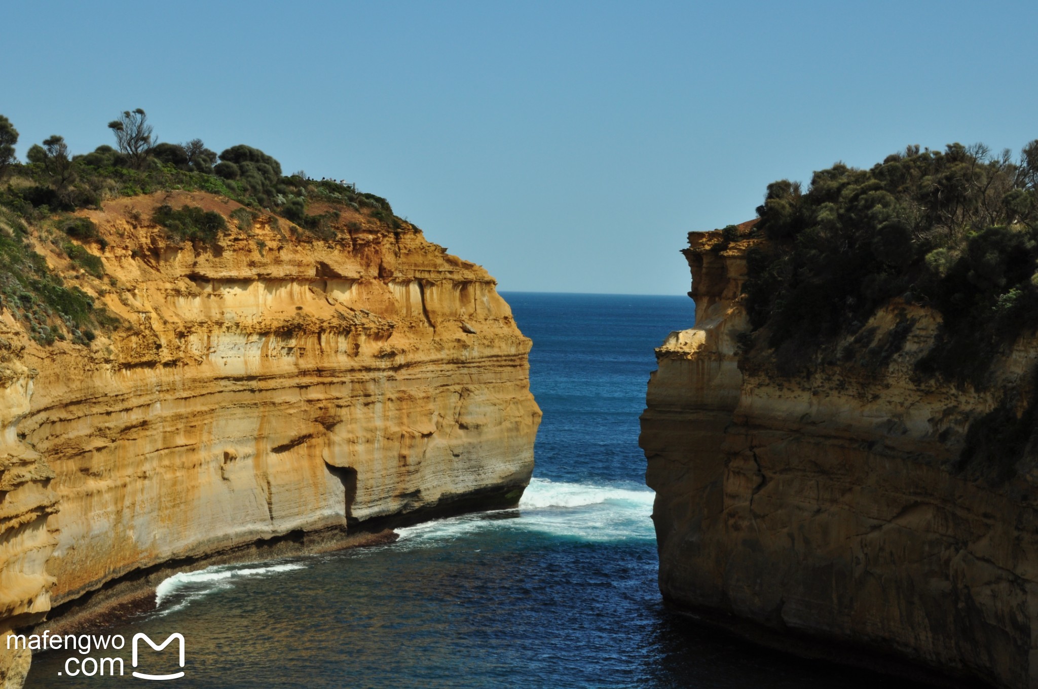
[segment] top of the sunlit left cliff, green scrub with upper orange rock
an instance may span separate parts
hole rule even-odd
[[[356,253],[361,245],[412,238],[412,250],[434,255],[421,268],[431,276],[443,270],[491,281],[477,266],[426,243],[385,198],[355,185],[282,174],[277,160],[243,144],[216,154],[198,139],[160,143],[142,110],[122,113],[109,128],[117,147],[73,155],[52,136],[31,146],[23,163],[13,156],[18,132],[0,116],[0,318],[39,344],[86,346],[119,328],[124,320],[103,305],[106,295],[124,288],[131,273],[174,257],[176,270],[193,278],[312,277],[322,270],[388,278],[392,269],[381,263],[336,268],[326,257],[315,268],[284,249],[325,244]],[[249,257],[242,258],[243,247]],[[238,258],[225,256],[230,249]]]

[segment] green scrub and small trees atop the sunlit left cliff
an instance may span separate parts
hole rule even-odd
[[[70,283],[79,275],[62,276],[45,256],[63,257],[83,275],[103,278],[107,241],[89,218],[76,214],[100,210],[109,199],[179,190],[240,203],[230,214],[233,225],[217,212],[192,205],[163,204],[143,219],[165,228],[169,241],[190,242],[197,250],[212,247],[230,226],[249,231],[264,217],[296,238],[325,241],[344,229],[337,221],[345,211],[392,231],[413,227],[381,196],[333,180],[310,180],[302,171],[285,175],[281,164],[258,148],[238,144],[218,154],[200,139],[161,142],[140,108],[124,111],[108,128],[114,146],[74,154],[63,137],[53,135],[32,144],[23,162],[16,155],[19,132],[0,115],[0,306],[44,344],[85,343],[93,329],[119,325]],[[356,220],[346,225],[357,227]]]

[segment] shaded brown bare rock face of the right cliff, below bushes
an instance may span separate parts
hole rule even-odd
[[[999,480],[959,462],[969,422],[1025,384],[1038,342],[999,364],[1003,385],[957,389],[913,373],[939,316],[895,303],[839,362],[782,377],[739,353],[756,240],[689,239],[695,327],[657,350],[641,417],[664,597],[1038,687],[1038,470],[1021,460]],[[862,363],[896,327],[903,347]]]

